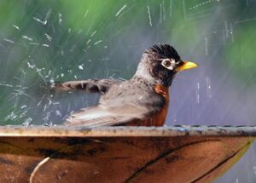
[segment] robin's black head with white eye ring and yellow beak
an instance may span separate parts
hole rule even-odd
[[[179,71],[195,68],[197,64],[181,60],[169,44],[159,44],[146,49],[137,68],[136,76],[151,78],[168,87]]]

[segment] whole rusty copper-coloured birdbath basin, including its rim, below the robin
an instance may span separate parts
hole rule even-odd
[[[212,182],[256,127],[0,127],[0,182]]]

